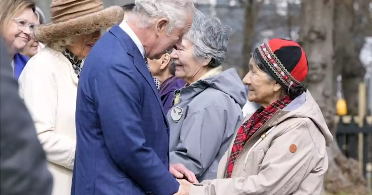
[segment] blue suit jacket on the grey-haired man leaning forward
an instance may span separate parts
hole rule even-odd
[[[96,43],[77,91],[72,195],[173,195],[169,125],[140,50],[119,26]]]

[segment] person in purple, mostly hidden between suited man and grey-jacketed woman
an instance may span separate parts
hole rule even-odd
[[[174,76],[176,67],[170,60],[170,53],[172,50],[167,50],[159,59],[148,60],[151,74],[161,83],[159,93],[166,113],[172,107],[174,91],[186,85],[184,80]]]

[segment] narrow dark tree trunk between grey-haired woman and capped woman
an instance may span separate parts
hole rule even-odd
[[[249,71],[249,59],[256,34],[254,29],[258,20],[260,3],[257,0],[241,0],[240,2],[244,7],[243,71],[240,76],[244,77]]]

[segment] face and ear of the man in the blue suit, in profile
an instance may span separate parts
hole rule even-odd
[[[153,39],[153,49],[146,54],[149,59],[159,58],[166,50],[172,48],[180,48],[183,35],[185,35],[192,24],[192,15],[187,17],[185,27],[174,28],[171,33],[167,33],[166,28],[168,25],[167,19],[160,19],[155,23],[155,35]]]

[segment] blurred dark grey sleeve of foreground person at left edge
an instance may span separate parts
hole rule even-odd
[[[52,175],[0,37],[0,194],[50,195]]]

